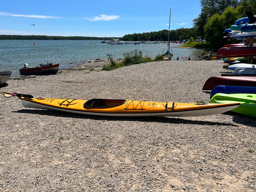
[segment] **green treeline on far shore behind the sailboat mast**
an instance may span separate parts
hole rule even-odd
[[[170,41],[187,40],[190,36],[196,38],[194,28],[180,28],[177,30],[170,30]],[[124,41],[168,41],[168,30],[161,30],[158,32],[145,32],[128,34],[121,38]]]

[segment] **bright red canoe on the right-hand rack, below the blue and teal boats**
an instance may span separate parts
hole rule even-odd
[[[233,46],[223,47],[218,50],[217,58],[255,56],[256,47],[249,46]]]

